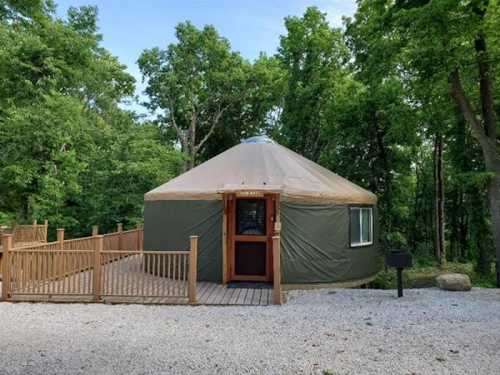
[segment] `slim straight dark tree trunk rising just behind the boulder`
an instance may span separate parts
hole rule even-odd
[[[443,136],[434,140],[434,183],[436,212],[436,258],[440,266],[446,263],[444,246],[444,181],[443,181]]]

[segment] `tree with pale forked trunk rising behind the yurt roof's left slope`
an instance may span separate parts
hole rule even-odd
[[[148,107],[161,111],[160,122],[175,129],[189,170],[223,115],[245,92],[248,63],[212,26],[199,30],[181,23],[176,36],[178,42],[166,50],[144,51],[138,63],[147,82]]]

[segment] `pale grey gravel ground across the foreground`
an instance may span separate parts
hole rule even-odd
[[[500,374],[500,290],[283,306],[0,303],[1,374]]]

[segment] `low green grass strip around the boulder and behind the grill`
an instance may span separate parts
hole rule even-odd
[[[449,262],[445,267],[439,268],[437,265],[419,266],[418,264],[403,271],[403,286],[405,288],[430,288],[436,286],[436,277],[443,273],[464,273],[469,275],[472,285],[482,288],[494,288],[494,275],[485,277],[474,271],[472,263]],[[381,271],[371,283],[375,289],[395,289],[396,270],[388,269]]]

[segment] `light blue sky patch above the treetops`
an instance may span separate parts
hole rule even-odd
[[[139,97],[144,90],[136,64],[139,55],[147,48],[164,49],[174,43],[179,22],[214,25],[233,50],[254,60],[260,52],[276,52],[286,16],[301,16],[308,6],[317,6],[332,26],[341,26],[342,16],[352,16],[356,10],[355,0],[56,0],[56,4],[61,18],[70,6],[98,7],[102,44],[135,77]],[[139,104],[128,107],[146,113]]]

